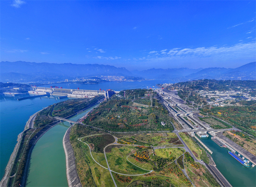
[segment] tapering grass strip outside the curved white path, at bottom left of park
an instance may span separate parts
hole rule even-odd
[[[99,164],[97,164],[93,159],[92,159],[92,156],[90,154],[90,150],[89,150],[89,147],[82,143],[82,146],[86,149],[86,156],[88,158],[88,161],[89,161],[89,166],[90,166],[90,169],[91,169],[91,172],[92,172],[92,177],[93,177],[93,180],[94,182],[96,183],[96,186],[98,187],[109,187],[109,186],[115,186],[112,178],[111,178],[111,175],[109,173],[109,171],[106,169],[106,168],[103,168],[101,167]],[[96,159],[95,159],[96,160]],[[106,161],[106,160],[105,160]],[[107,165],[107,164],[106,164]],[[101,177],[100,177],[100,181],[104,181],[103,183],[99,183],[98,179],[96,178],[96,175],[95,175],[95,172],[94,172],[94,168],[97,167],[99,170],[100,170],[100,173],[101,173]],[[108,180],[110,179],[110,180]]]

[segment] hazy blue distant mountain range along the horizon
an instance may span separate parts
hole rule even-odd
[[[144,71],[128,71],[126,68],[117,68],[99,64],[50,64],[35,62],[0,62],[1,82],[46,82],[64,81],[76,77],[93,76],[124,76],[141,77],[144,79],[169,79],[174,81],[188,81],[196,79],[216,80],[255,80],[256,62],[245,64],[235,69],[231,68],[173,68],[148,69]]]

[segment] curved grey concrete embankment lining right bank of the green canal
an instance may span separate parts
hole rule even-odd
[[[71,127],[73,127],[73,125]],[[66,155],[68,186],[82,187],[79,176],[76,172],[76,161],[75,161],[74,151],[69,140],[71,127],[68,128],[63,138],[63,147]]]

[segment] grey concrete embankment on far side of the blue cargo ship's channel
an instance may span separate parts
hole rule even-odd
[[[245,158],[247,158],[254,165],[256,165],[256,156],[255,155],[253,155],[249,151],[245,150],[243,147],[237,145],[231,139],[227,138],[226,136],[224,136],[222,134],[216,134],[216,137],[219,138],[221,141],[223,141],[226,145],[232,147],[235,151],[237,151],[238,153],[243,155]]]

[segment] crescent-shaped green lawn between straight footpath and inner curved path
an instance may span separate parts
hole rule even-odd
[[[127,154],[131,153],[132,146],[123,146],[122,148],[112,148],[111,153],[106,153],[108,159],[108,165],[111,170],[127,174],[127,175],[138,175],[148,173],[148,170],[138,168],[126,160]],[[119,154],[120,153],[120,154]],[[125,171],[126,169],[126,171]],[[132,169],[134,169],[132,171]]]

